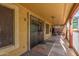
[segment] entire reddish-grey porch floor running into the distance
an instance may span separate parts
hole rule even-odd
[[[64,43],[63,36],[52,36],[44,43],[38,44],[22,56],[71,56]]]

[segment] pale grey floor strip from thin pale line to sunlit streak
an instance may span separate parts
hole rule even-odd
[[[49,56],[66,56],[66,49],[63,46],[64,42],[62,41],[61,36],[53,36],[52,40],[55,40],[55,42],[52,45],[52,48],[49,52]]]

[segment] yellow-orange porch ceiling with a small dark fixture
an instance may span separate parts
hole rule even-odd
[[[72,3],[25,3],[21,5],[54,25],[64,24],[73,6]]]

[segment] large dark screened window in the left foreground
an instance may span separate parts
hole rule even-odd
[[[0,48],[14,44],[14,10],[0,5]]]

